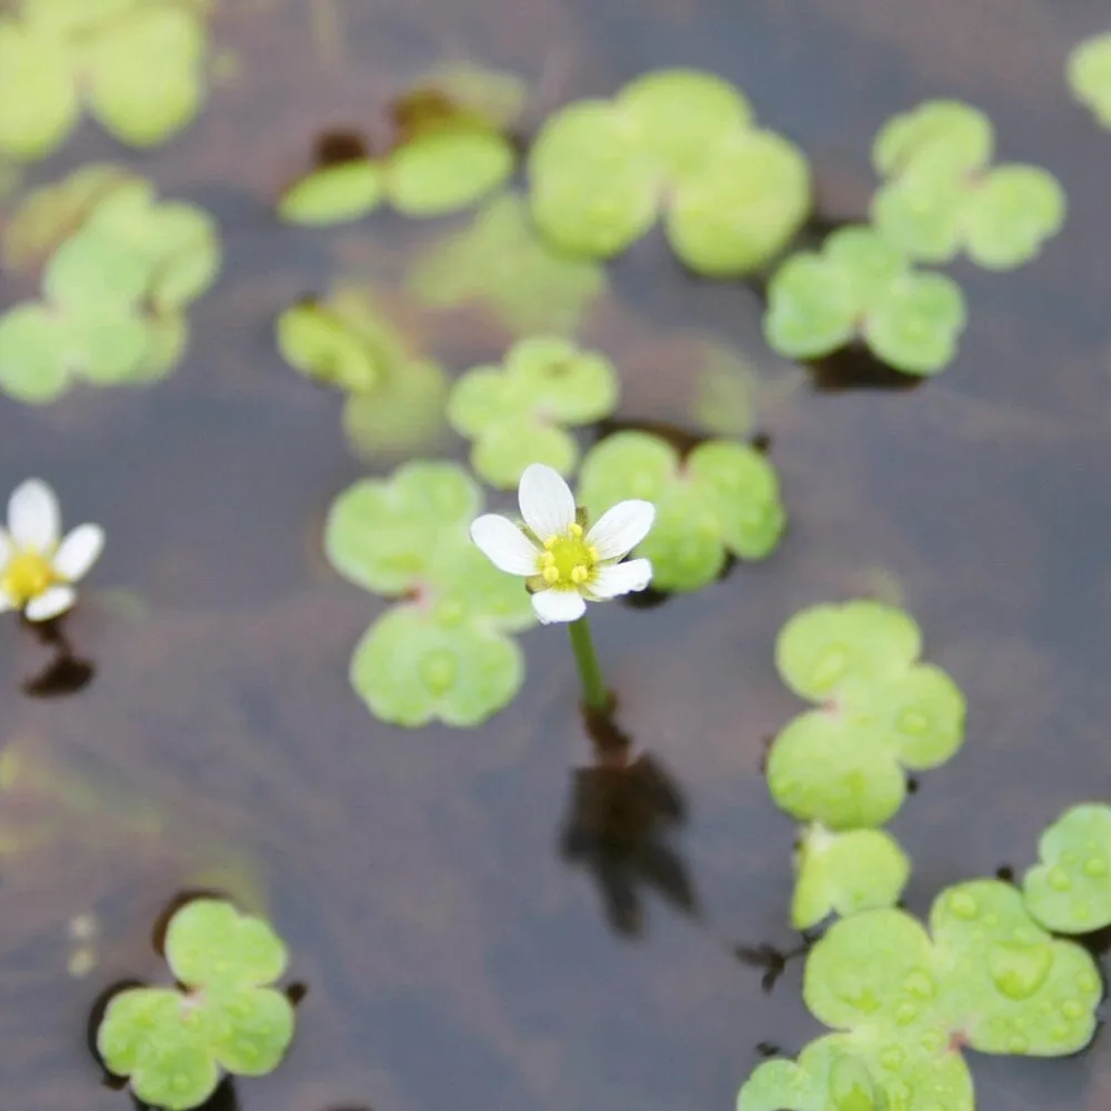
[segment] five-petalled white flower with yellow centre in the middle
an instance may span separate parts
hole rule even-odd
[[[494,567],[529,580],[532,605],[546,624],[577,621],[587,601],[643,590],[652,581],[649,560],[619,562],[652,528],[650,501],[619,502],[584,536],[570,487],[542,463],[526,469],[518,500],[527,530],[484,513],[471,524],[471,539]]]

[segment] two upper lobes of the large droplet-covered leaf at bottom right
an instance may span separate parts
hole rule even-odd
[[[930,933],[893,909],[835,922],[807,961],[811,1012],[854,1043],[1059,1057],[1095,1030],[1101,982],[1079,945],[1045,933],[997,880],[943,891]]]

